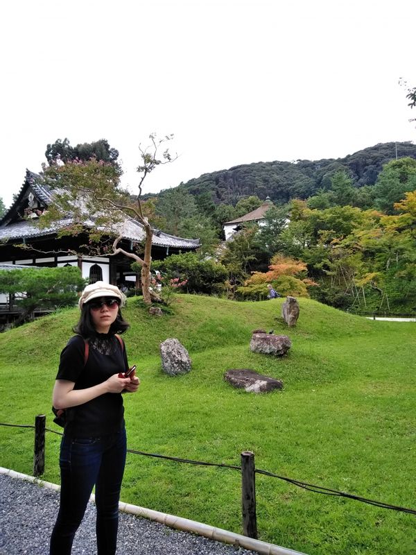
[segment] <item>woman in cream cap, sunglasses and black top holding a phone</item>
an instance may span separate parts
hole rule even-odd
[[[80,320],[62,350],[53,406],[65,409],[60,449],[61,491],[50,555],[69,555],[76,530],[96,486],[98,555],[114,555],[126,439],[121,393],[135,393],[139,379],[128,370],[121,316],[125,296],[114,285],[85,287]]]

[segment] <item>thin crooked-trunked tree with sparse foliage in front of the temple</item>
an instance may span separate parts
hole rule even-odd
[[[90,253],[94,251],[94,254],[105,253],[110,256],[121,253],[137,262],[141,266],[141,288],[146,304],[159,300],[159,297],[150,288],[153,229],[144,211],[142,187],[149,173],[161,164],[173,162],[177,157],[172,157],[168,148],[160,153],[166,142],[173,139],[173,135],[157,139],[152,134],[149,138],[150,145],[146,148],[139,145],[139,194],[134,200],[121,187],[119,167],[95,158],[87,162],[71,160],[65,164],[44,167],[44,180],[55,191],[55,195],[54,202],[40,216],[40,225],[43,227],[57,221],[62,225],[62,218],[67,218],[61,234],[76,234],[89,228]],[[139,221],[144,229],[143,256],[120,246],[128,219]]]

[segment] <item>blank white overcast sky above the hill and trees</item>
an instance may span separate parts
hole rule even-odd
[[[46,144],[101,138],[137,192],[138,145],[175,134],[144,192],[271,160],[415,141],[415,0],[13,0],[0,8],[0,196]]]

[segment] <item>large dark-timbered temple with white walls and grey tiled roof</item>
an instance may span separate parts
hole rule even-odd
[[[88,230],[94,229],[94,221],[83,222],[85,232],[78,235],[58,236],[60,230],[73,223],[69,216],[63,216],[62,220],[49,228],[36,225],[37,214],[47,210],[52,203],[51,189],[44,185],[40,176],[26,170],[24,185],[15,202],[0,219],[0,267],[78,266],[83,278],[88,278],[89,282],[130,282],[133,287],[137,287],[137,275],[130,269],[133,262],[131,258],[125,255],[80,255],[83,252],[81,246],[88,244]],[[123,238],[119,246],[126,251],[135,251],[140,256],[140,245],[145,238],[141,223],[126,217],[121,224],[121,234]],[[153,259],[186,253],[199,246],[199,239],[182,239],[161,230],[153,230]]]

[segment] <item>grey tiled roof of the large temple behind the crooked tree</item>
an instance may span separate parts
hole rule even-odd
[[[37,180],[40,176],[37,173],[33,173],[29,170],[26,170],[26,182],[21,188],[19,192],[19,196],[16,202],[10,207],[7,214],[3,216],[1,221],[7,222],[8,221],[8,214],[12,212],[12,208],[19,203],[21,200],[21,195],[24,192],[24,189],[30,185],[33,193],[41,200],[46,206],[53,203],[53,197],[51,190],[49,187],[46,187]],[[18,241],[21,239],[21,242],[24,242],[26,239],[33,239],[34,237],[43,237],[45,235],[51,235],[57,233],[60,229],[64,228],[67,225],[71,225],[73,220],[70,218],[62,219],[58,222],[53,223],[47,228],[40,228],[37,225],[34,225],[33,222],[30,220],[19,221],[17,223],[10,223],[6,225],[0,225],[0,241]],[[94,226],[94,221],[92,220],[85,220],[83,225],[87,227]],[[143,225],[138,221],[133,219],[126,218],[125,221],[121,224],[115,226],[117,232],[121,232],[124,239],[128,239],[130,241],[143,241],[145,238],[145,231]],[[153,233],[153,241],[152,244],[155,246],[161,247],[173,247],[173,248],[187,248],[187,249],[195,249],[200,246],[199,239],[184,239],[183,237],[175,237],[174,235],[169,235],[159,230],[155,230]]]

